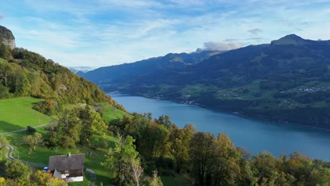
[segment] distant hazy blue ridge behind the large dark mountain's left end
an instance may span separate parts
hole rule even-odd
[[[91,70],[81,74],[88,80],[99,85],[109,84],[117,81],[125,81],[142,78],[152,73],[163,73],[167,70],[184,68],[200,63],[204,59],[220,54],[224,51],[201,51],[197,50],[191,54],[167,54],[156,58],[149,58],[135,63],[125,63],[118,66],[107,66]]]

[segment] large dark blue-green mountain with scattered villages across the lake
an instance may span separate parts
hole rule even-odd
[[[107,73],[106,78],[100,76],[104,81],[85,77],[105,91],[330,129],[330,41],[287,35],[270,44],[226,51],[181,68],[148,67],[135,70],[126,64],[111,72],[106,69],[118,66],[101,68]],[[143,75],[136,75],[144,69]]]

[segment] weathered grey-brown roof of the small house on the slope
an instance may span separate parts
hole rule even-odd
[[[85,168],[85,154],[49,156],[49,171],[68,171]]]

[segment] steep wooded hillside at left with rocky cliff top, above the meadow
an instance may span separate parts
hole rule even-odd
[[[11,31],[1,27],[1,38],[11,38]],[[111,97],[97,85],[72,73],[51,59],[22,48],[0,45],[0,99],[37,97],[45,99],[39,111],[61,111],[65,104],[98,104],[109,102],[119,109]]]

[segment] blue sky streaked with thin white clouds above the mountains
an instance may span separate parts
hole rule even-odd
[[[330,39],[330,1],[1,0],[16,46],[67,67],[113,66],[288,34]]]

